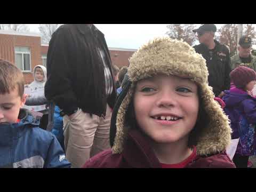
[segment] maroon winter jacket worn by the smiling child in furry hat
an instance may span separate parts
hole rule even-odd
[[[89,159],[83,168],[161,168],[147,137],[137,130],[129,132],[129,138],[121,154],[105,150]],[[235,168],[225,151],[208,157],[197,156],[186,168]]]

